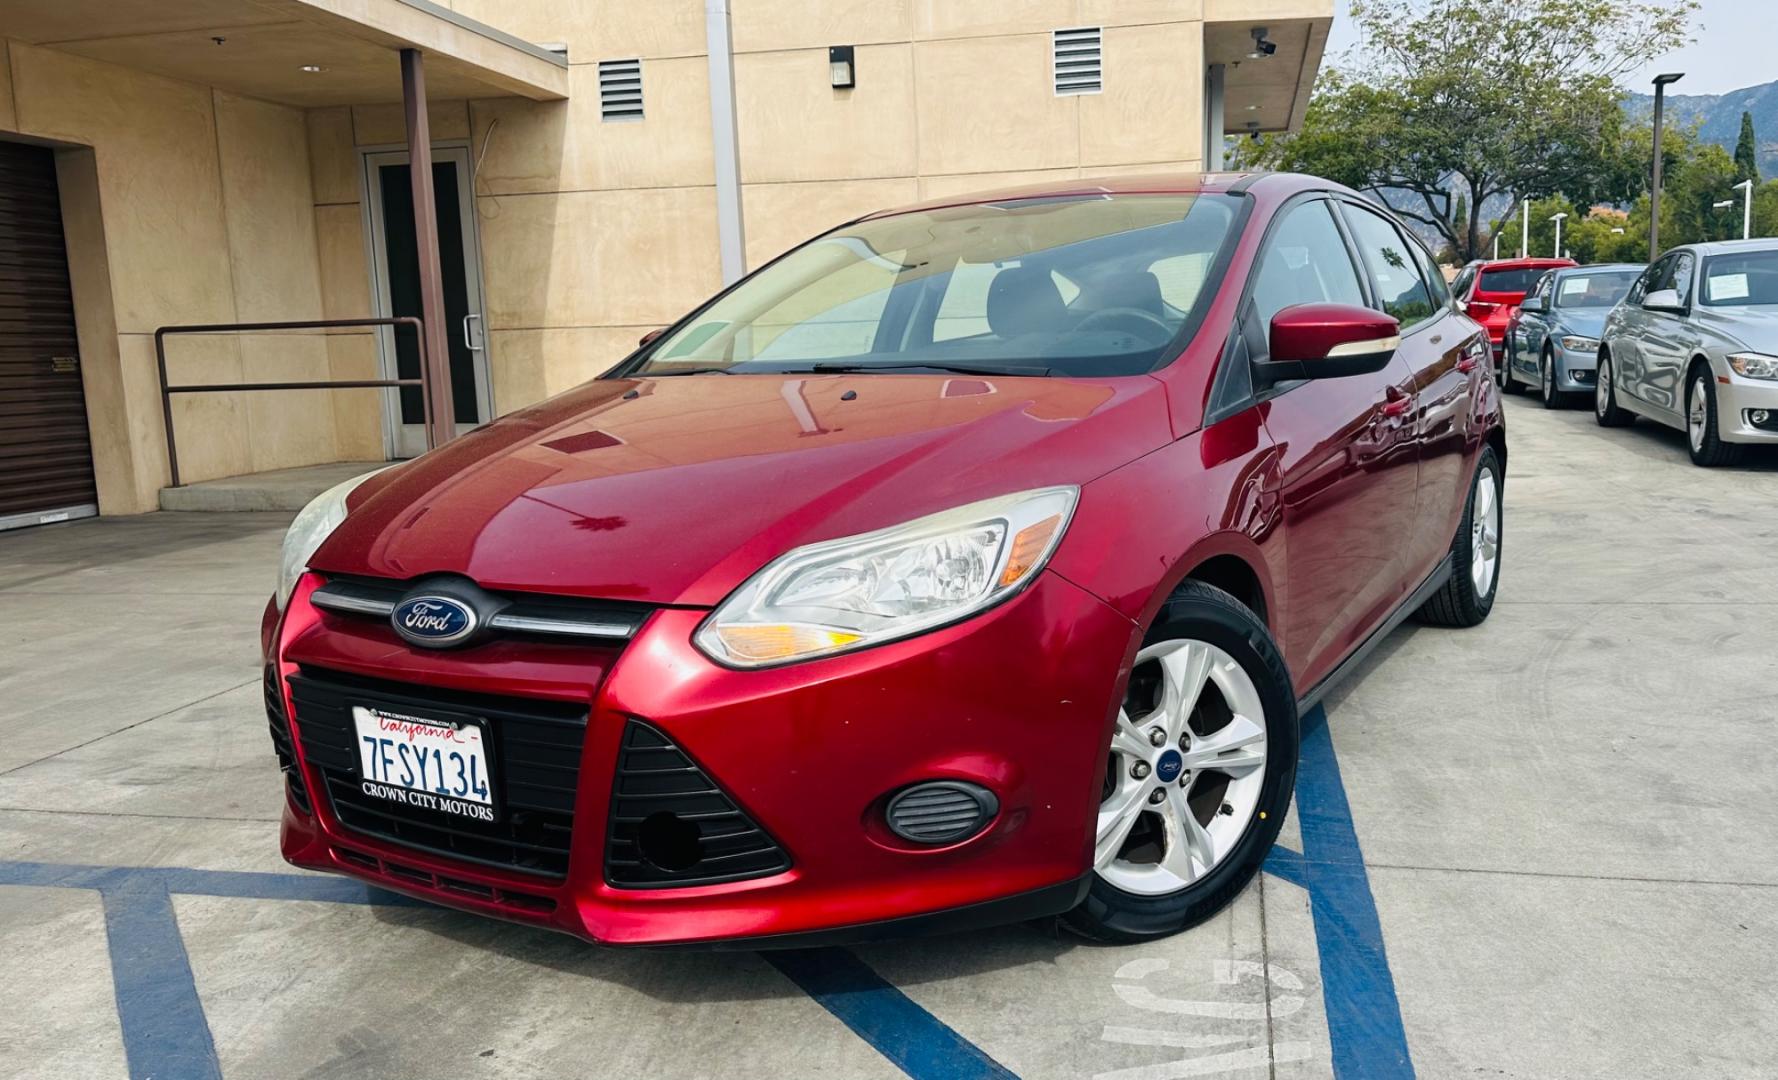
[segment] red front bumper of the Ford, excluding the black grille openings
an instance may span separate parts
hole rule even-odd
[[[955,626],[852,655],[731,671],[690,641],[702,610],[654,612],[608,653],[487,642],[414,649],[386,623],[322,614],[306,578],[279,630],[276,669],[368,676],[516,701],[581,703],[585,740],[564,875],[489,866],[341,824],[327,778],[302,749],[302,706],[286,713],[304,779],[288,801],[288,861],[348,874],[437,904],[612,945],[805,943],[969,925],[1070,907],[1090,870],[1104,747],[1136,626],[1054,573]],[[644,721],[786,852],[766,877],[683,888],[610,883],[606,836],[621,740]],[[898,840],[887,795],[923,779],[994,792],[999,811],[944,847]],[[942,918],[946,913],[949,920]],[[884,925],[887,923],[887,925]]]

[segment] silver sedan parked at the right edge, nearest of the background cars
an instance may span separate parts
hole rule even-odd
[[[1686,244],[1606,317],[1593,416],[1684,431],[1694,464],[1778,445],[1778,240]]]

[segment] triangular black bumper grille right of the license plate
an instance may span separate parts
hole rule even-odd
[[[789,856],[692,758],[642,721],[624,726],[605,879],[677,888],[789,870]]]

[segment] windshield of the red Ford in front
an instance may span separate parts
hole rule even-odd
[[[798,247],[624,375],[1129,375],[1214,294],[1234,196],[1069,196],[862,221]]]

